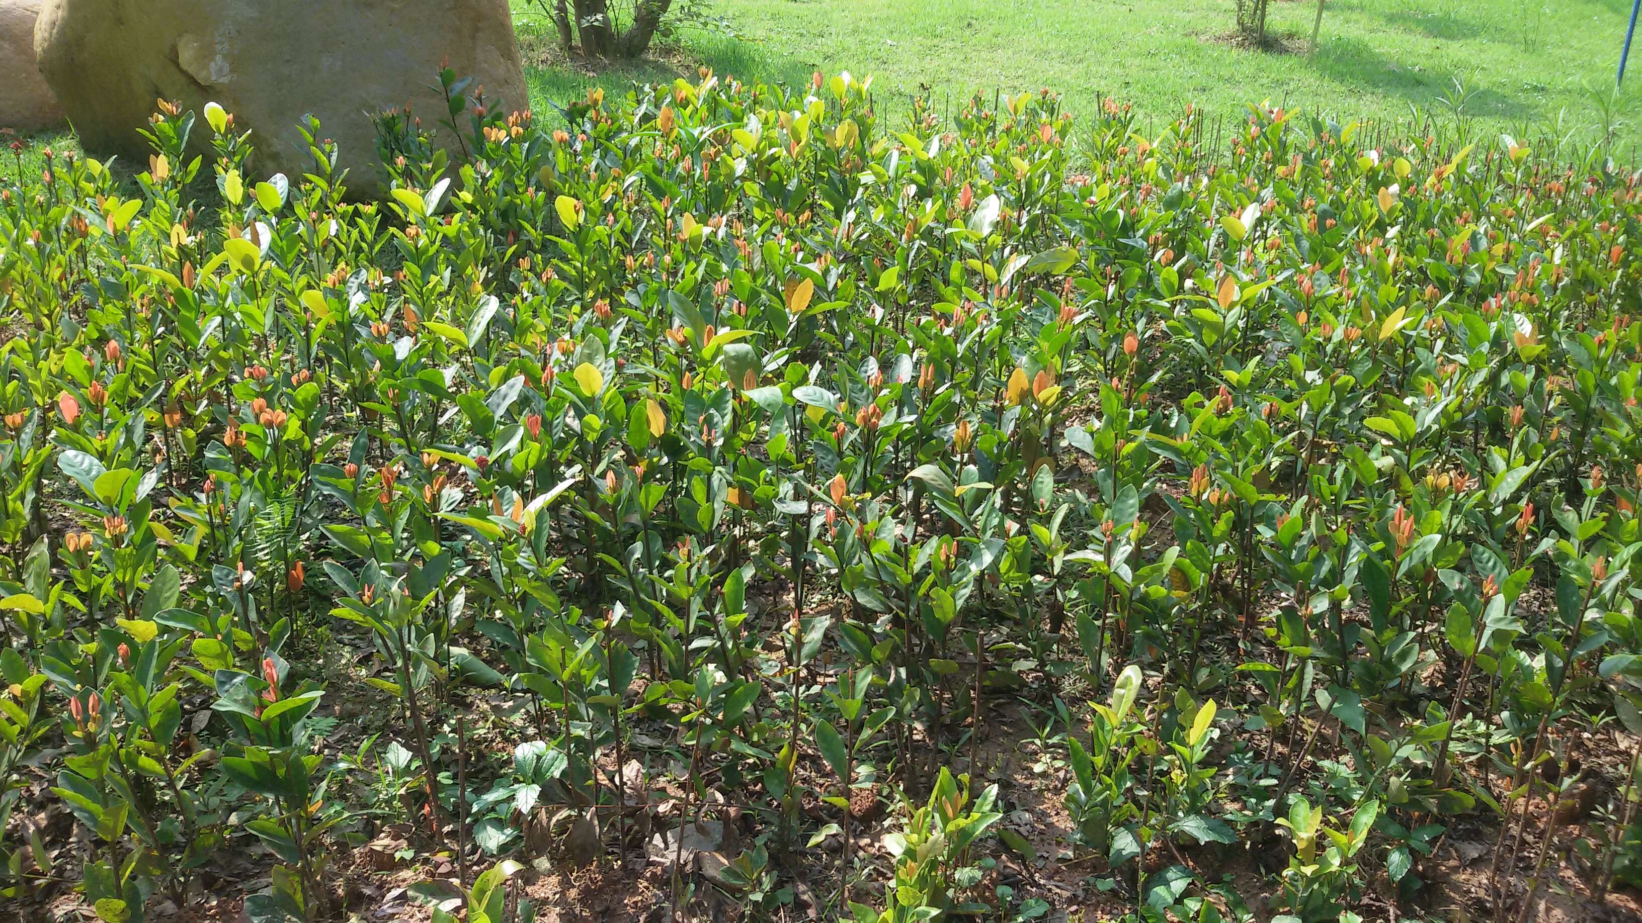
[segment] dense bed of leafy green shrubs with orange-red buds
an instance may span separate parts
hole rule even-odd
[[[438,77],[371,176],[0,158],[7,907],[1631,900],[1642,174]]]

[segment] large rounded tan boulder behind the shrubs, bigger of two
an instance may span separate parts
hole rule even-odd
[[[409,107],[455,143],[438,128],[443,66],[491,108],[530,103],[507,0],[44,0],[34,54],[92,153],[146,164],[138,128],[156,100],[217,102],[253,131],[258,174],[297,177],[312,169],[297,123],[314,113],[355,189],[374,189],[374,112]],[[195,145],[209,135],[200,118]]]

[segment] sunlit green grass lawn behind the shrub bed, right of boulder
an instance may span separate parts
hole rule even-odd
[[[1328,0],[1319,49],[1314,0],[1273,0],[1282,51],[1225,41],[1232,0],[708,0],[736,34],[681,30],[672,67],[589,76],[565,62],[535,0],[514,0],[540,94],[617,87],[706,64],[742,79],[872,74],[885,95],[921,84],[938,103],[970,90],[1051,87],[1074,112],[1102,95],[1172,117],[1186,103],[1236,113],[1271,100],[1342,118],[1407,120],[1455,110],[1473,128],[1589,141],[1611,126],[1627,149],[1642,123],[1642,48],[1611,97],[1627,0]],[[1456,89],[1455,79],[1463,85]]]

